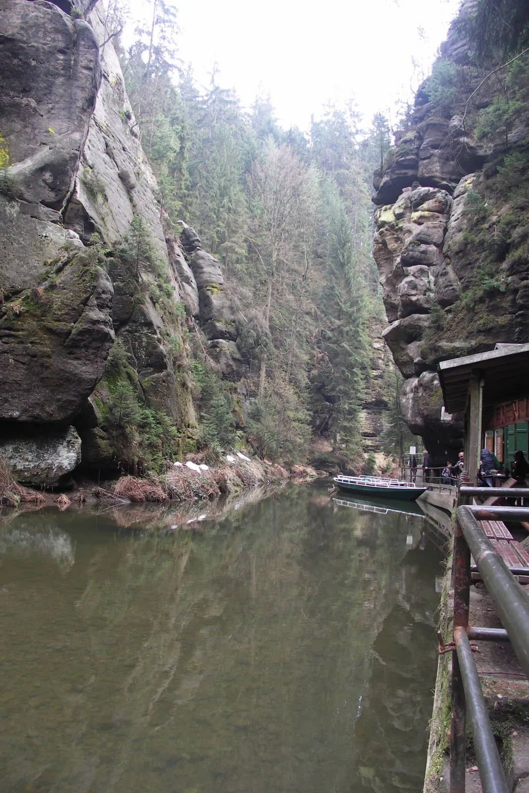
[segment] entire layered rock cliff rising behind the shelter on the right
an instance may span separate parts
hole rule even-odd
[[[460,13],[469,9],[464,3]],[[404,418],[439,462],[452,458],[462,439],[462,416],[441,416],[439,361],[529,335],[529,262],[516,239],[526,220],[522,213],[509,239],[502,217],[516,224],[519,197],[510,205],[508,197],[503,204],[497,198],[497,187],[487,193],[505,155],[516,147],[527,151],[527,117],[512,125],[507,151],[499,135],[478,142],[479,109],[493,103],[497,86],[485,84],[477,109],[466,104],[483,75],[457,26],[443,44],[441,63],[447,73],[464,75],[465,87],[439,104],[430,100],[428,81],[421,86],[412,128],[397,133],[383,171],[374,174],[373,198],[374,258],[389,320],[382,335],[405,378]]]

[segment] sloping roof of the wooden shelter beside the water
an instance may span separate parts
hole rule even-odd
[[[483,407],[490,408],[529,396],[529,344],[496,344],[489,352],[443,361],[438,372],[447,412],[465,410],[473,372],[485,380]]]

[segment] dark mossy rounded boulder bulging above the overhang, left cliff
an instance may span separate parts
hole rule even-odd
[[[71,421],[105,371],[112,283],[86,255],[62,266],[0,308],[1,420]]]

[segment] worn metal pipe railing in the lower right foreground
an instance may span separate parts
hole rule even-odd
[[[491,496],[505,496],[506,488],[487,488]],[[499,491],[498,493],[493,491]],[[518,492],[521,491],[521,492]],[[482,495],[483,488],[462,486],[462,496]],[[527,489],[509,488],[510,496],[527,496]],[[466,712],[470,716],[477,767],[484,793],[507,793],[508,787],[489,722],[469,635],[512,643],[523,671],[529,676],[529,602],[523,589],[485,536],[480,520],[523,520],[529,508],[461,506],[454,531],[454,657],[452,660],[452,719],[450,725],[450,793],[464,793],[466,768]],[[492,596],[504,630],[469,630],[470,554]]]

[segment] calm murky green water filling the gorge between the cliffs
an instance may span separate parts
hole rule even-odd
[[[0,791],[419,793],[424,519],[321,485],[200,509],[0,511]]]

